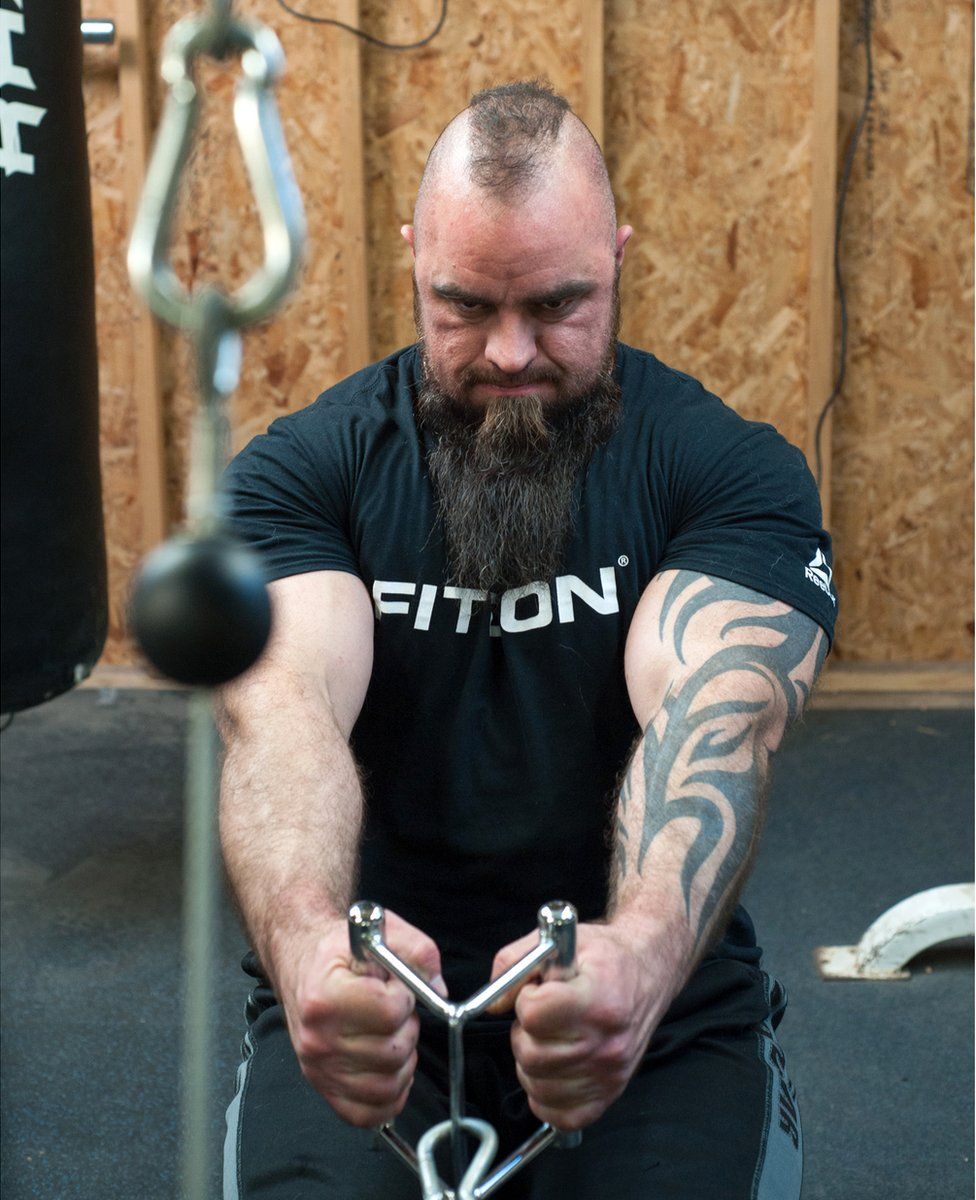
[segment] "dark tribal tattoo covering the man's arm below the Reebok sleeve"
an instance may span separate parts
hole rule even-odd
[[[770,755],[802,713],[827,641],[788,605],[694,571],[677,572],[658,626],[679,668],[691,658],[687,640],[700,637],[693,631],[718,632],[703,661],[695,665],[696,653],[688,673],[678,671],[628,767],[617,805],[613,892],[619,900],[624,887],[631,890],[634,872],[679,868],[697,952],[738,894],[759,835]],[[676,835],[672,822],[682,817],[696,824]],[[696,829],[690,844],[689,829]]]

